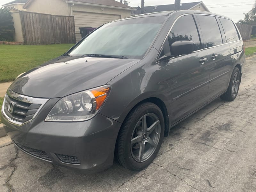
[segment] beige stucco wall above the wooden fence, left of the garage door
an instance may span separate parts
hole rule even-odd
[[[62,0],[34,0],[29,4],[27,11],[51,15],[71,15],[70,7]]]

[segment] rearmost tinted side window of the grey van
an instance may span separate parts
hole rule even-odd
[[[220,22],[222,24],[222,27],[224,29],[227,42],[237,41],[239,40],[238,33],[236,31],[236,28],[234,26],[234,23],[229,19],[220,18]]]

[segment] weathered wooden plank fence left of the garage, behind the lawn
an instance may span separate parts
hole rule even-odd
[[[76,43],[74,16],[20,11],[24,44]]]

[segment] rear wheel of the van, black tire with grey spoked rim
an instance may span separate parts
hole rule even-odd
[[[234,84],[234,78],[237,79],[236,84]],[[235,100],[237,93],[239,91],[240,80],[241,80],[241,73],[240,73],[240,70],[236,67],[231,75],[231,79],[230,79],[229,86],[228,86],[228,91],[225,92],[223,95],[221,95],[220,98],[225,101]],[[234,88],[234,86],[237,86],[237,88]]]

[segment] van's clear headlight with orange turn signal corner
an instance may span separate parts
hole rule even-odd
[[[107,99],[110,86],[75,93],[59,100],[45,121],[74,122],[85,121],[95,116]]]

